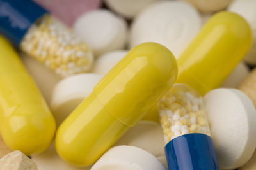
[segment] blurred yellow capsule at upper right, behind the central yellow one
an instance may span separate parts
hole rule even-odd
[[[252,32],[244,18],[222,11],[214,15],[177,60],[177,83],[204,95],[220,87],[250,49]]]

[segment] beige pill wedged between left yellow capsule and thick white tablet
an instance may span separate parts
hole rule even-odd
[[[50,104],[54,86],[61,78],[44,64],[33,59],[33,57],[22,53],[21,59],[28,73],[32,76],[33,80],[35,80],[38,89],[42,92],[45,101],[47,104]]]

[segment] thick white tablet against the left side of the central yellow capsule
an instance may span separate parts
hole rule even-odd
[[[102,76],[77,74],[61,80],[52,93],[51,110],[56,124],[61,122],[92,92]]]

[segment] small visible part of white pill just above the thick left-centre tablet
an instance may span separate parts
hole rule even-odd
[[[93,73],[105,76],[127,53],[126,50],[117,50],[98,57],[93,67]]]

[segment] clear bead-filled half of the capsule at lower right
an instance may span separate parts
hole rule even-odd
[[[189,133],[211,136],[202,96],[188,85],[173,85],[159,102],[159,113],[166,143]]]

